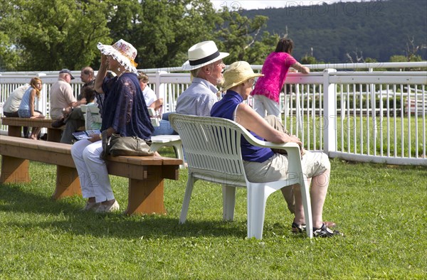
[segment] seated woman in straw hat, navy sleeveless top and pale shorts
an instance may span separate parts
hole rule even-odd
[[[251,65],[245,61],[238,61],[230,65],[224,72],[223,89],[226,95],[214,104],[211,110],[212,117],[231,119],[251,131],[251,134],[260,140],[273,143],[295,142],[302,146],[300,139],[295,135],[285,134],[275,129],[263,117],[255,112],[248,104],[241,104],[251,93],[255,77]],[[288,157],[277,154],[271,149],[253,146],[242,139],[242,156],[246,176],[251,182],[278,181],[288,176]],[[303,150],[302,150],[303,151]],[[312,178],[310,196],[312,200],[313,234],[316,237],[330,237],[339,232],[330,230],[327,225],[332,222],[323,222],[322,210],[325,203],[327,187],[330,178],[330,161],[326,154],[305,151],[302,156],[302,168],[307,178]],[[293,232],[305,230],[305,216],[302,207],[300,185],[294,185],[295,218],[292,222]]]

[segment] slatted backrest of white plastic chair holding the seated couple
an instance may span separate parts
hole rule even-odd
[[[169,121],[184,144],[189,173],[196,178],[246,186],[241,157],[242,131],[236,122],[214,117],[170,114]]]

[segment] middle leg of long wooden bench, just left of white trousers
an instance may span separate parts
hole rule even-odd
[[[52,198],[57,200],[72,195],[82,195],[77,170],[71,167],[57,166],[56,189]]]

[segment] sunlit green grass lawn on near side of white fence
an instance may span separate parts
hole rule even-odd
[[[55,166],[31,162],[32,182],[0,185],[0,279],[426,279],[427,168],[332,160],[325,220],[344,237],[290,232],[280,192],[262,240],[246,239],[246,189],[223,222],[221,187],[198,182],[179,225],[187,171],[165,181],[167,215],[80,212],[53,201]],[[111,176],[122,208],[127,179]]]

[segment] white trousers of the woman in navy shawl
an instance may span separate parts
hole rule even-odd
[[[97,203],[114,199],[105,161],[100,158],[102,141],[82,139],[71,147],[83,198],[95,198]]]

